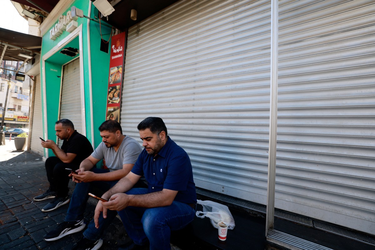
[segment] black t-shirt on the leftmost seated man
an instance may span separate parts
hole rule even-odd
[[[77,156],[75,156],[71,162],[72,164],[77,165],[80,165],[84,159],[89,157],[91,153],[94,152],[90,141],[86,138],[86,136],[78,133],[77,130],[74,131],[69,140],[63,141],[61,149],[65,153],[77,154]]]

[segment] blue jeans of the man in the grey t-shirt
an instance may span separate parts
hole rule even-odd
[[[108,173],[109,170],[101,168],[92,168],[94,173]],[[65,220],[66,222],[74,222],[77,220],[82,220],[84,218],[84,213],[86,210],[86,203],[89,199],[88,193],[92,192],[92,188],[96,187],[104,192],[107,192],[111,187],[113,187],[118,181],[96,181],[96,182],[81,182],[75,185],[71,201],[69,203],[68,211],[66,212]],[[89,240],[98,240],[104,229],[112,222],[116,217],[116,211],[109,211],[107,219],[101,223],[100,228],[95,228],[94,220],[91,220],[89,227],[83,233],[83,235]],[[86,233],[86,234],[85,234]]]

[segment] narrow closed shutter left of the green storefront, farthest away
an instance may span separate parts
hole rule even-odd
[[[31,138],[30,149],[43,155],[43,147],[40,145],[39,136],[43,138],[43,121],[42,121],[42,94],[40,88],[40,75],[35,77],[35,90],[34,90],[34,110],[33,122],[31,125]]]

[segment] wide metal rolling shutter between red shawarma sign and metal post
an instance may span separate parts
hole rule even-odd
[[[196,186],[266,203],[270,4],[179,1],[129,29],[121,126],[161,117]]]

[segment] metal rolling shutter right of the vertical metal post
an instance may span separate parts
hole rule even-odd
[[[375,4],[280,1],[275,206],[375,234]]]

